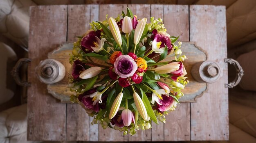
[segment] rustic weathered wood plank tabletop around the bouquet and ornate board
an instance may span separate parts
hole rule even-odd
[[[36,77],[35,67],[63,42],[75,41],[90,28],[92,20],[116,17],[126,6],[138,17],[162,18],[170,35],[181,41],[195,41],[207,52],[207,59],[222,68],[221,78],[209,84],[195,103],[182,103],[166,116],[166,124],[152,124],[123,136],[116,130],[91,125],[92,119],[77,104],[63,104],[47,93]],[[59,5],[30,9],[28,80],[28,140],[59,141],[195,141],[228,140],[227,32],[225,6],[199,5]],[[188,71],[190,72],[190,71]]]

